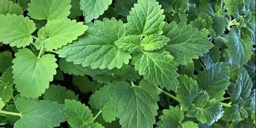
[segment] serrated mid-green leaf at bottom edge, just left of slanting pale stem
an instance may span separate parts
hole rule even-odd
[[[65,116],[71,127],[92,127],[93,117],[89,107],[76,100],[65,100]]]

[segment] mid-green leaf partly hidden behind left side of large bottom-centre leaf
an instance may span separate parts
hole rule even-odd
[[[103,86],[99,91],[95,91],[89,101],[90,106],[99,109],[102,113],[103,120],[109,123],[115,121],[117,116],[115,106],[111,104],[112,98],[110,97],[110,93],[111,83]]]

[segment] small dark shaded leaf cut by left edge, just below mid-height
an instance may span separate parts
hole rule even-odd
[[[2,82],[3,82],[3,84],[5,84],[5,85],[7,85],[7,84],[9,84],[10,86],[13,86],[13,78],[12,78],[12,76],[13,76],[13,74],[12,74],[12,66],[10,66],[7,70],[5,70],[5,72],[3,73],[3,75],[2,75]]]

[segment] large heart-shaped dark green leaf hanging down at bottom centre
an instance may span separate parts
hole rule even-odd
[[[118,112],[117,118],[123,128],[153,128],[156,123],[159,92],[155,86],[142,80],[139,86],[130,86],[127,82],[117,82],[111,87],[114,91],[113,105]]]

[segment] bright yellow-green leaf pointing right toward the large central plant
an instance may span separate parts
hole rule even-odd
[[[37,41],[43,41],[47,50],[58,49],[76,40],[87,30],[83,22],[70,19],[57,19],[48,21],[45,27],[39,29],[38,37],[48,37]],[[58,30],[58,31],[56,31]],[[42,32],[41,32],[42,31]]]

